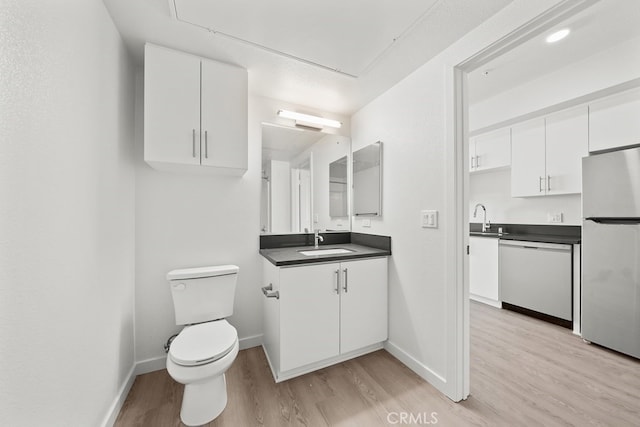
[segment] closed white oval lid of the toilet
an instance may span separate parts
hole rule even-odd
[[[169,357],[178,365],[194,366],[220,359],[238,340],[236,328],[226,320],[186,326],[169,348]]]

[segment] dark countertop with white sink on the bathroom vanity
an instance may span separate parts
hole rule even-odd
[[[313,264],[317,262],[347,261],[359,258],[372,258],[391,255],[390,250],[370,246],[343,243],[338,245],[320,245],[318,249],[344,248],[353,252],[332,255],[302,255],[299,251],[314,250],[313,246],[294,246],[285,248],[260,249],[260,254],[275,266]]]

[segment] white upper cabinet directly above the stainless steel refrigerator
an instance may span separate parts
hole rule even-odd
[[[589,151],[640,144],[640,88],[589,104]]]

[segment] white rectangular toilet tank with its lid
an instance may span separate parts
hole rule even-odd
[[[176,325],[231,316],[238,270],[237,265],[216,265],[167,273]]]

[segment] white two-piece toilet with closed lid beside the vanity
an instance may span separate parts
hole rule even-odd
[[[238,355],[238,333],[225,317],[233,314],[238,266],[173,270],[167,273],[176,325],[186,325],[171,342],[167,371],[184,384],[180,419],[206,424],[227,405],[224,373]]]

